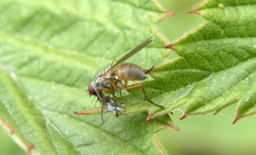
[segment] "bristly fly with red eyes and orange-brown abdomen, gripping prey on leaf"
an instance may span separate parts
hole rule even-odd
[[[137,87],[141,87],[143,94],[144,94],[144,101],[149,101],[151,104],[164,108],[161,105],[155,104],[153,101],[147,98],[146,91],[142,84],[133,84],[133,85],[127,85],[127,81],[135,81],[135,80],[145,80],[146,74],[153,69],[153,67],[147,71],[143,71],[139,66],[132,64],[132,63],[126,63],[121,64],[134,54],[136,54],[138,51],[143,49],[145,46],[150,44],[152,42],[151,38],[148,38],[144,43],[137,46],[133,50],[131,50],[129,53],[127,53],[125,56],[123,56],[120,60],[118,60],[114,65],[112,64],[110,67],[100,71],[97,76],[95,77],[95,81],[92,81],[88,86],[89,95],[98,96],[98,99],[100,100],[102,104],[102,109],[105,105],[109,105],[111,108],[106,108],[109,111],[113,111],[113,106],[115,108],[116,116],[120,115],[118,111],[118,105],[116,105],[115,102],[115,91],[118,91],[121,93],[121,89],[129,90]],[[121,64],[121,65],[120,65]],[[124,84],[122,83],[122,80],[124,80]],[[106,99],[103,95],[103,91],[109,92],[113,96],[112,99]],[[109,104],[106,104],[109,103]],[[105,106],[106,107],[106,106]],[[107,106],[108,107],[108,106]],[[120,108],[120,107],[119,107]],[[102,113],[102,112],[101,112]],[[102,116],[102,114],[101,114]],[[103,119],[103,118],[102,118]],[[104,122],[104,120],[103,120]]]

